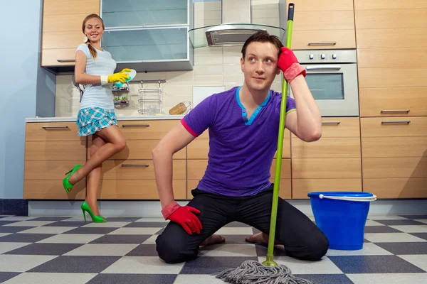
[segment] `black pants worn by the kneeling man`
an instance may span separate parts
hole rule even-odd
[[[197,216],[203,226],[200,234],[187,234],[181,225],[169,222],[157,237],[157,253],[167,263],[191,261],[197,257],[200,244],[222,226],[242,222],[268,234],[270,231],[273,185],[250,197],[226,197],[192,190],[189,206],[200,210]],[[298,209],[279,198],[275,239],[285,245],[288,256],[317,261],[325,256],[329,242],[325,234]]]

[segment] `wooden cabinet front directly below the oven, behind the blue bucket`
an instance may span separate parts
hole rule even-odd
[[[322,138],[291,136],[292,199],[314,191],[362,191],[358,117],[322,118]]]

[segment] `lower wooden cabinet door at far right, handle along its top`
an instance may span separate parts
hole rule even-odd
[[[427,197],[427,117],[362,118],[364,191]]]

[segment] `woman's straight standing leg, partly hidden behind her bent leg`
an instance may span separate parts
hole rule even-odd
[[[96,133],[92,136],[92,146],[90,146],[90,157],[105,145],[104,139],[98,136]],[[86,183],[86,203],[88,203],[93,214],[100,216],[100,211],[97,207],[97,192],[100,185],[100,179],[102,174],[102,163],[96,168],[90,171],[88,174],[88,180]]]

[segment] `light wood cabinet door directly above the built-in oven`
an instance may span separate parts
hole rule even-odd
[[[356,48],[353,0],[295,0],[292,49]]]

